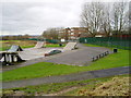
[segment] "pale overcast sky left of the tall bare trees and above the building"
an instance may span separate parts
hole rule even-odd
[[[82,5],[87,1],[91,0],[1,0],[0,34],[40,35],[49,27],[78,27]]]

